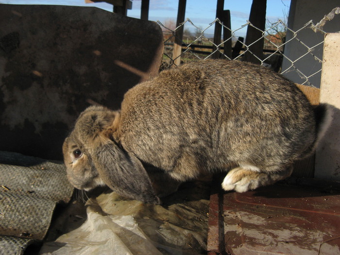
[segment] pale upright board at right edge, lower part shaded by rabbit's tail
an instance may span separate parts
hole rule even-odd
[[[340,34],[325,34],[320,102],[333,110],[333,120],[321,140],[315,158],[315,177],[340,181]]]

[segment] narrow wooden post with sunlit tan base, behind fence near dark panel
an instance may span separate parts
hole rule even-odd
[[[186,5],[187,5],[187,0],[178,1],[176,27],[178,27],[184,21],[184,18],[186,16]],[[172,59],[174,60],[173,63],[176,66],[181,64],[183,30],[184,28],[182,26],[175,32],[175,42],[173,44]]]

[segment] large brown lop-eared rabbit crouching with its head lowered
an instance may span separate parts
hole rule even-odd
[[[288,177],[331,118],[292,82],[236,60],[199,60],[129,89],[121,109],[89,106],[63,144],[68,179],[159,204],[201,174],[245,192]]]

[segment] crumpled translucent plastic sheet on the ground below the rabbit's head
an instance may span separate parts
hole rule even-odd
[[[102,194],[87,202],[80,228],[45,243],[40,254],[206,254],[209,190],[206,182],[185,184],[162,205]]]

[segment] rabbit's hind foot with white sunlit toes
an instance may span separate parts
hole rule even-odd
[[[245,192],[260,186],[271,185],[288,177],[293,168],[285,170],[262,172],[257,167],[237,167],[228,172],[222,182],[224,190],[235,190]]]

